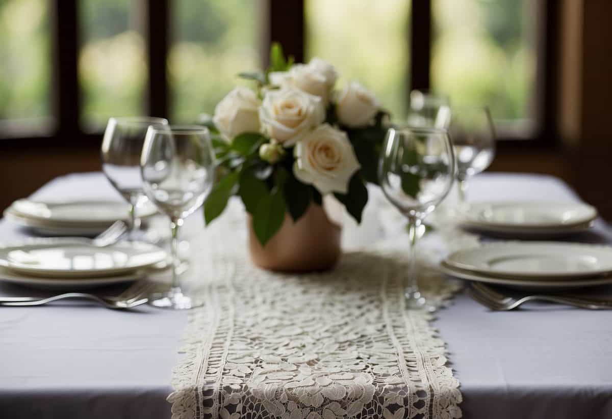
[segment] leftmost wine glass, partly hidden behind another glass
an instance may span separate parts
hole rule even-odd
[[[110,118],[102,140],[102,171],[115,189],[130,204],[129,238],[140,229],[136,208],[146,202],[140,176],[140,155],[150,125],[168,125],[164,118]]]

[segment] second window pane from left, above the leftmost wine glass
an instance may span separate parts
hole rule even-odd
[[[100,129],[112,116],[144,112],[146,45],[141,2],[82,0],[83,46],[78,70],[83,92],[83,125]]]

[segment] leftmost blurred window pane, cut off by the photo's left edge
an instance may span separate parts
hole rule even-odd
[[[51,113],[47,1],[0,1],[0,57],[0,122],[43,129]]]

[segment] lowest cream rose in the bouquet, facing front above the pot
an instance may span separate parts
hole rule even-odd
[[[353,173],[359,170],[353,145],[344,131],[324,124],[308,133],[294,150],[293,173],[313,184],[321,194],[346,194]]]

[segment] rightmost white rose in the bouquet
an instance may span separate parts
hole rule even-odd
[[[351,128],[370,124],[379,107],[374,95],[356,81],[349,82],[336,98],[338,120]]]

